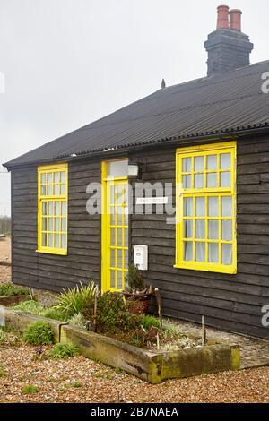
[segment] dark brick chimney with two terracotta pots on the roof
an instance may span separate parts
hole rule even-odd
[[[249,37],[241,31],[241,15],[239,9],[230,10],[227,5],[218,7],[217,29],[204,43],[208,53],[208,76],[250,64],[249,56],[254,46]]]

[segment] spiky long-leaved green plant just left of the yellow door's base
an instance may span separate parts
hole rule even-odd
[[[97,294],[98,288],[94,282],[91,282],[87,287],[84,287],[81,283],[74,289],[67,289],[58,297],[57,308],[70,318],[74,314],[81,313],[85,303]]]

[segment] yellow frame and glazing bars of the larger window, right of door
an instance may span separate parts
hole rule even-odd
[[[220,177],[221,172],[228,172],[228,168],[221,168],[220,159],[221,154],[228,154],[231,155],[230,160],[230,187],[221,187],[220,185]],[[216,155],[217,156],[217,169],[208,169],[207,167],[207,157]],[[195,171],[195,158],[196,157],[204,157],[204,170]],[[183,159],[192,159],[192,168],[191,172],[187,172],[183,170]],[[220,273],[230,273],[236,274],[237,273],[237,223],[236,223],[236,216],[237,216],[237,186],[236,186],[236,168],[237,168],[237,143],[236,142],[222,142],[222,143],[215,143],[215,144],[208,144],[208,145],[201,145],[195,146],[190,148],[180,148],[177,150],[177,160],[176,160],[176,178],[177,178],[177,199],[176,199],[176,206],[177,206],[177,220],[176,220],[176,264],[175,268],[178,269],[187,269],[193,271],[212,271],[212,272],[220,272]],[[206,187],[207,181],[207,174],[210,173],[217,173],[217,187]],[[204,175],[204,188],[195,188],[195,175],[203,174]],[[184,188],[183,186],[183,176],[191,176],[191,186],[189,188]],[[190,180],[190,179],[189,179]],[[232,198],[232,215],[228,218],[225,218],[221,215],[221,201],[222,197],[231,197]],[[193,198],[193,211],[192,216],[187,218],[184,216],[184,199],[185,198]],[[195,202],[196,198],[203,197],[205,202],[205,216],[198,217],[195,214]],[[218,197],[219,203],[219,216],[212,217],[209,216],[208,212],[208,198],[209,197]],[[192,237],[191,238],[184,238],[184,221],[187,219],[193,219],[192,225]],[[195,236],[195,220],[196,219],[203,219],[205,225],[205,238],[200,239]],[[221,223],[222,221],[232,220],[232,240],[225,241],[221,238]],[[209,220],[217,220],[219,222],[219,238],[217,240],[212,240],[208,236],[208,221]],[[185,261],[184,260],[184,246],[189,242],[193,245],[192,251],[192,261]],[[196,243],[204,243],[205,244],[205,262],[196,262],[195,261],[195,245]],[[219,245],[219,262],[208,262],[208,250],[209,244],[218,244]],[[225,265],[222,263],[222,245],[232,245],[232,264]]]

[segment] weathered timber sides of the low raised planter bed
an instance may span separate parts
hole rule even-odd
[[[240,350],[237,345],[212,345],[174,352],[153,352],[136,348],[98,333],[76,329],[34,314],[5,309],[5,322],[23,331],[32,322],[49,322],[55,340],[79,348],[84,357],[112,367],[121,368],[152,384],[175,378],[239,370]]]

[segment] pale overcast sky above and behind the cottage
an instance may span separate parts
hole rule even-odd
[[[221,0],[0,0],[0,162],[161,87],[206,74],[204,41]],[[229,0],[269,58],[268,0]],[[269,70],[269,69],[268,69]],[[0,215],[10,176],[0,167]],[[3,169],[4,171],[4,169]]]

